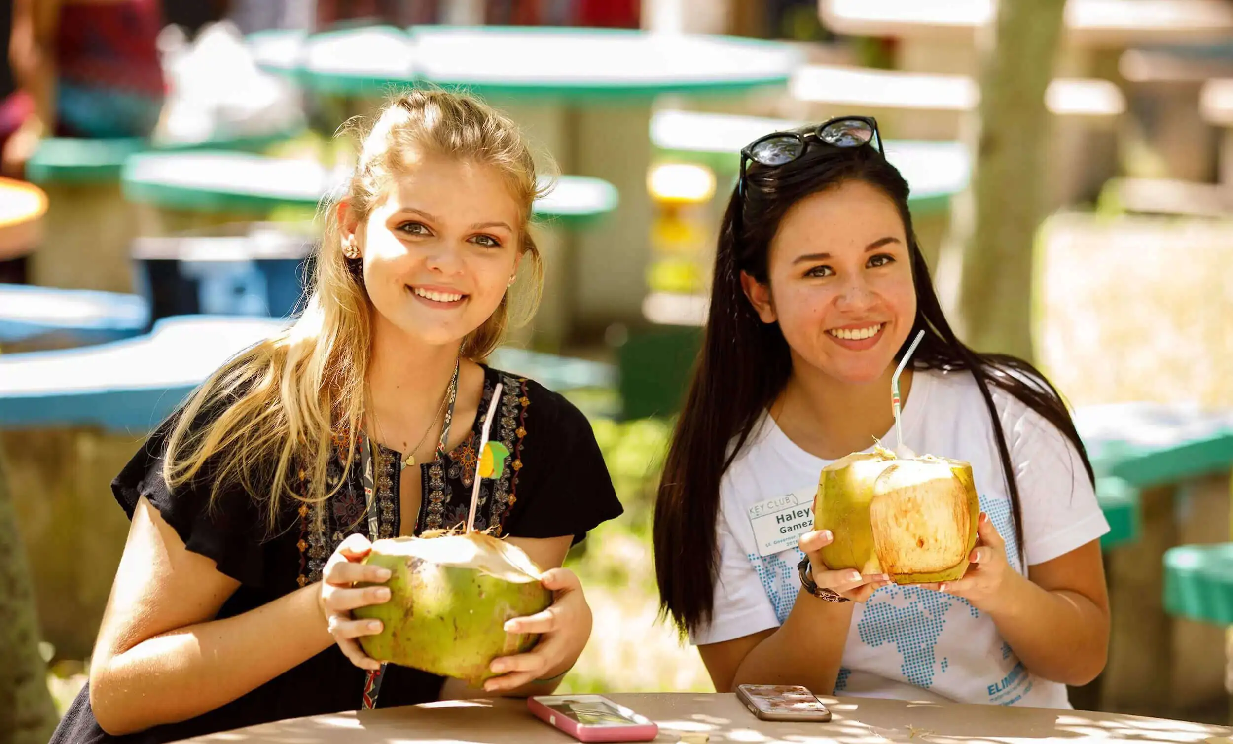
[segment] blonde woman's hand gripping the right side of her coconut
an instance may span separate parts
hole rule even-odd
[[[591,606],[578,576],[567,568],[554,568],[544,573],[540,583],[555,592],[552,605],[506,622],[508,633],[540,633],[539,643],[525,654],[493,659],[491,669],[501,676],[483,684],[486,692],[503,692],[561,674],[573,665],[591,638]]]

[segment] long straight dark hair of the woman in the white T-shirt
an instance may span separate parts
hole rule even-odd
[[[907,208],[907,182],[869,145],[836,148],[809,140],[798,160],[778,166],[755,164],[743,198],[734,190],[720,227],[710,309],[693,381],[665,461],[655,505],[655,572],[660,611],[681,631],[709,623],[718,569],[716,517],[723,474],[745,446],[763,410],[792,373],[788,342],[778,324],[764,324],[741,288],[742,271],[767,282],[771,239],[784,213],[800,200],[847,181],[863,181],[894,201],[904,220],[916,289],[916,319],[905,346],[921,330],[914,370],[965,370],[975,378],[993,419],[1002,475],[1014,507],[1015,537],[1022,554],[1018,485],[990,394],[1006,390],[1053,424],[1079,451],[1088,478],[1091,463],[1058,390],[1028,362],[978,354],[961,342],[942,314],[928,266],[921,255]],[[903,358],[906,349],[896,352]]]

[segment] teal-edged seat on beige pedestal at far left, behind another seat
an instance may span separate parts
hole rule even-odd
[[[141,211],[120,187],[125,161],[147,150],[184,152],[200,147],[261,149],[295,134],[208,142],[157,143],[145,138],[44,139],[26,165],[26,177],[47,192],[43,243],[30,259],[35,285],[132,292],[128,248],[142,230]]]

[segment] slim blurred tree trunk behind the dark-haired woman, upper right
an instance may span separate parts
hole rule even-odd
[[[1044,92],[1064,10],[1065,0],[1000,0],[993,26],[983,30],[972,202],[956,219],[958,325],[978,351],[1033,357],[1032,246],[1052,124]]]

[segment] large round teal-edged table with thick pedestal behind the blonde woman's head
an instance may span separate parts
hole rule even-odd
[[[633,30],[385,26],[250,37],[258,64],[307,89],[376,99],[417,84],[462,87],[509,113],[561,172],[610,181],[604,229],[549,235],[538,333],[636,321],[646,293],[652,102],[783,89],[800,64],[787,46]],[[337,123],[337,122],[335,122]]]

